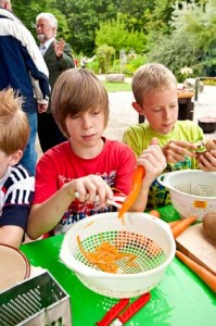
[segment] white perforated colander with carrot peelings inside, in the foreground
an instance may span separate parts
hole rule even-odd
[[[79,250],[77,236],[86,252],[94,252],[103,241],[132,253],[136,260],[117,261],[117,273],[101,271]],[[131,298],[149,292],[161,280],[175,255],[175,240],[169,226],[145,213],[127,213],[124,224],[117,213],[87,217],[66,233],[60,258],[89,289],[111,298]]]

